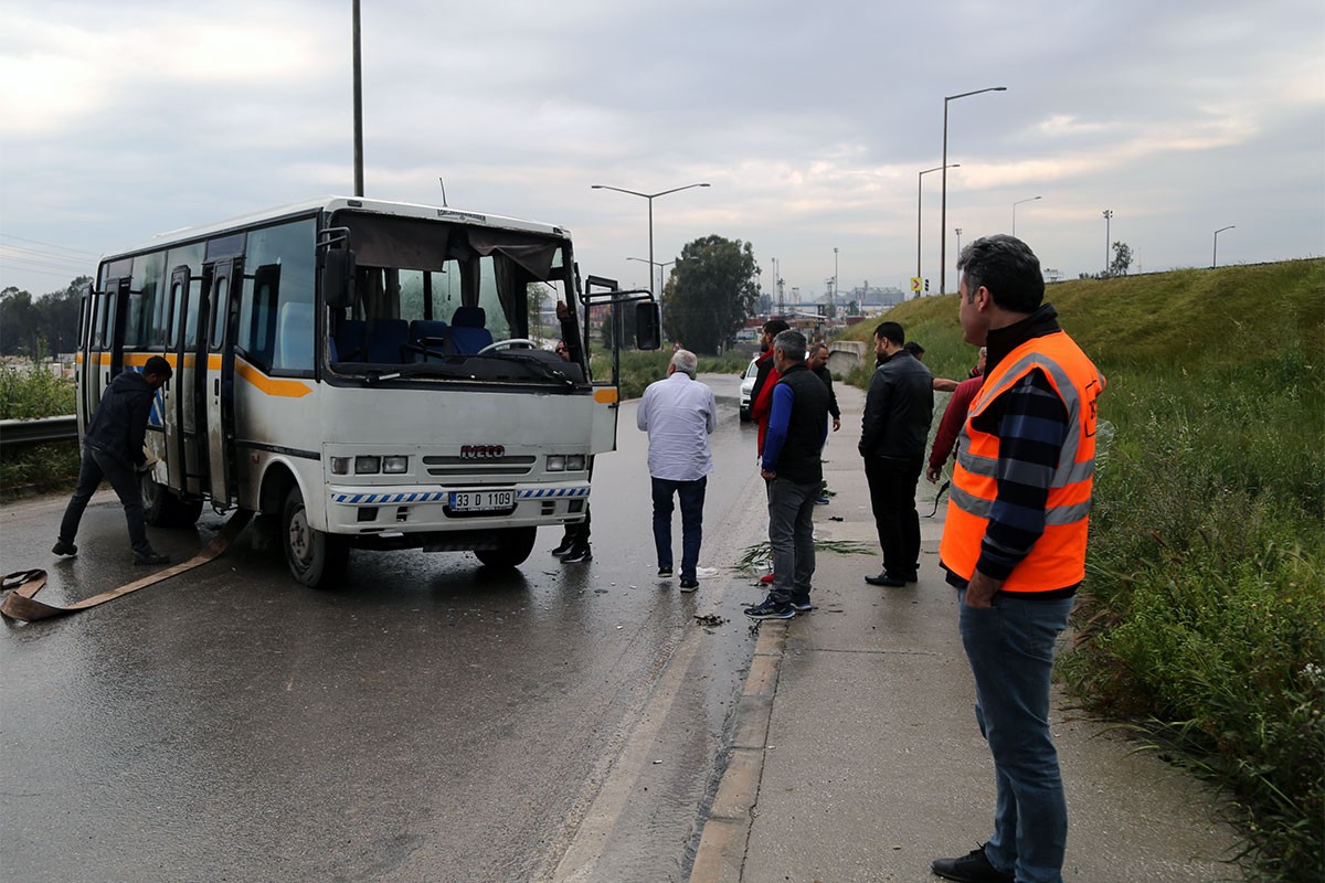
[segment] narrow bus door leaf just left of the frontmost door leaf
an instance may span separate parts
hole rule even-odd
[[[170,487],[207,492],[207,324],[205,277],[191,277],[187,265],[171,271],[171,351],[175,376],[166,397],[166,450]]]

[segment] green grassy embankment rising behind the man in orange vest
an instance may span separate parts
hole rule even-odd
[[[1325,261],[1047,299],[1108,377],[1114,428],[1060,676],[1220,786],[1248,879],[1325,879]],[[955,295],[888,318],[935,375],[974,363]]]

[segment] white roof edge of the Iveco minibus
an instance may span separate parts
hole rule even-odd
[[[109,252],[106,254],[102,254],[101,261],[98,261],[98,263],[102,263],[107,259],[119,256],[136,254],[138,252],[159,249],[163,245],[174,242],[188,242],[193,240],[207,238],[211,236],[216,236],[219,233],[225,233],[228,230],[253,226],[264,221],[274,221],[282,217],[307,214],[315,210],[338,212],[341,209],[356,209],[378,214],[391,214],[395,217],[419,217],[419,218],[439,220],[439,221],[456,221],[461,224],[477,224],[481,226],[496,226],[509,230],[526,230],[529,233],[542,233],[545,236],[556,236],[556,237],[570,236],[570,232],[566,228],[554,226],[551,224],[541,224],[538,221],[523,221],[521,218],[505,217],[501,214],[488,214],[484,212],[469,212],[465,209],[456,209],[444,205],[390,203],[386,200],[370,200],[359,196],[323,196],[315,200],[290,203],[288,205],[278,205],[276,208],[269,208],[260,212],[252,212],[249,214],[241,214],[238,217],[232,217],[225,221],[217,221],[215,224],[203,224],[199,226],[182,226],[176,230],[156,233],[146,242],[138,242],[131,248],[118,249],[115,252]]]

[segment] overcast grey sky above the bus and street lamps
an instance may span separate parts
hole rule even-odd
[[[1321,0],[363,0],[366,192],[563,225],[647,285],[697,237],[787,295],[937,293],[1011,232],[1064,278],[1325,253]],[[354,191],[350,0],[0,0],[0,287]],[[1108,222],[1104,210],[1112,209]]]

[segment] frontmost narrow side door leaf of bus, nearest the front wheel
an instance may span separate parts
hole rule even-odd
[[[228,507],[236,498],[235,478],[235,331],[242,259],[216,261],[203,267],[209,278],[207,323],[207,461],[212,504]],[[238,283],[236,286],[236,282]],[[232,297],[233,295],[233,297]]]

